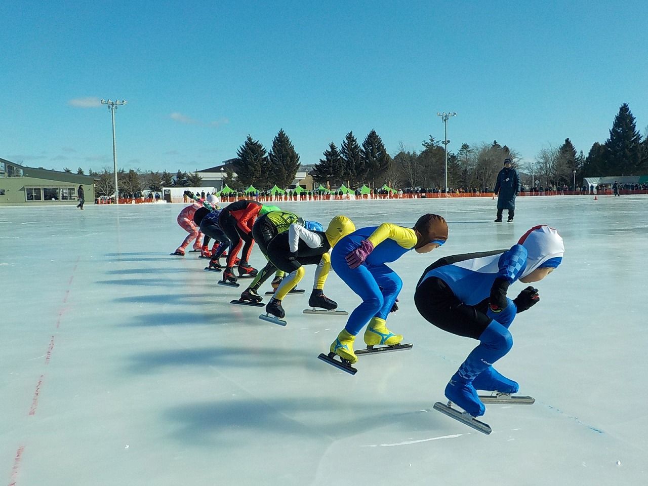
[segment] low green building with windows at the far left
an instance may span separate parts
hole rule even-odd
[[[88,204],[95,203],[95,178],[71,172],[25,167],[0,159],[0,206],[17,204],[78,204],[83,185]]]

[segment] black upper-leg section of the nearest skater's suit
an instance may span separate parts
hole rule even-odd
[[[464,304],[438,277],[430,277],[417,287],[414,304],[427,321],[457,336],[479,339],[491,323],[486,315],[488,299],[477,305]]]

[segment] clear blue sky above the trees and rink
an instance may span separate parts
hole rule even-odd
[[[0,6],[0,157],[194,170],[283,128],[302,163],[353,130],[533,159],[587,154],[626,102],[648,126],[648,3],[13,1]]]

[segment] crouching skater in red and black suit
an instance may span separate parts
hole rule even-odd
[[[256,201],[240,200],[227,205],[218,217],[218,224],[225,232],[231,245],[227,256],[227,267],[223,272],[223,281],[235,283],[237,277],[233,268],[238,257],[238,252],[243,248],[238,264],[238,276],[257,275],[258,270],[249,265],[249,255],[252,253],[254,238],[252,227],[263,205]]]

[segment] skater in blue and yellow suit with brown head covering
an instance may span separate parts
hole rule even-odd
[[[347,325],[330,345],[330,352],[351,364],[358,361],[353,341],[367,323],[367,345],[393,346],[403,336],[387,329],[386,319],[395,307],[402,281],[386,263],[414,249],[428,253],[448,239],[448,225],[438,214],[421,216],[413,228],[391,223],[358,229],[333,248],[330,262],[335,273],[362,298]]]

